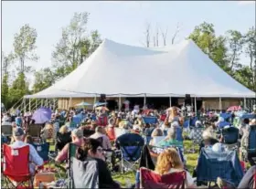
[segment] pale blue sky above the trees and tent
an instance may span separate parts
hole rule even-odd
[[[102,38],[123,44],[143,46],[146,23],[152,32],[159,26],[168,28],[167,44],[180,25],[176,43],[185,39],[195,26],[204,21],[215,26],[217,35],[229,29],[245,33],[255,26],[253,1],[2,1],[2,50],[13,50],[14,35],[21,26],[37,29],[37,62],[35,69],[51,65],[51,53],[75,12],[89,12],[88,30],[97,29]]]

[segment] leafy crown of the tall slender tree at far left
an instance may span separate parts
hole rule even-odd
[[[37,60],[37,55],[34,53],[37,41],[37,31],[35,28],[25,25],[20,28],[19,33],[15,34],[14,41],[14,57],[19,61],[20,72],[31,70],[30,67],[26,67],[26,60]]]

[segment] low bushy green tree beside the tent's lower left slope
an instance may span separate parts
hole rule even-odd
[[[34,73],[35,82],[33,85],[33,92],[39,92],[43,89],[47,89],[55,82],[54,73],[50,68],[43,68]]]

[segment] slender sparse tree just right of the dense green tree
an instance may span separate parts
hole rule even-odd
[[[228,43],[229,43],[229,59],[230,59],[230,71],[233,71],[233,68],[240,67],[239,60],[242,50],[243,37],[239,31],[229,30],[228,34]]]

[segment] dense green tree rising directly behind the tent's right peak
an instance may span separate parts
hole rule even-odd
[[[229,71],[226,39],[222,36],[216,37],[212,24],[204,22],[196,26],[188,38],[192,39],[220,68]]]

